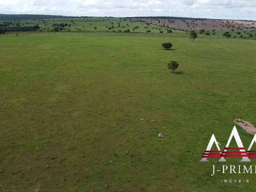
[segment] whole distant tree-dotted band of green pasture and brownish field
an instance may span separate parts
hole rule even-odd
[[[1,24],[4,25],[6,22],[9,26],[1,27]],[[11,23],[9,24],[9,22]],[[215,22],[219,24],[217,25]],[[224,24],[222,22],[224,22]],[[190,26],[189,28],[186,26],[187,23]],[[212,27],[212,24],[214,24],[214,27]],[[224,27],[221,25],[224,25]],[[231,38],[256,39],[255,23],[253,21],[239,20],[168,20],[112,17],[0,20],[0,32],[1,28],[5,28],[7,34],[24,33],[24,31],[12,31],[13,28],[17,28],[17,26],[21,28],[38,26],[36,32],[130,32],[187,38],[189,37],[190,31],[195,30],[199,38],[226,38],[222,36],[223,33],[230,32]],[[234,26],[234,28],[232,26]],[[170,28],[172,28],[171,34],[167,32]],[[204,32],[200,34],[200,30],[204,30]],[[206,32],[209,32],[209,35],[206,35]],[[252,36],[249,37],[249,34]]]

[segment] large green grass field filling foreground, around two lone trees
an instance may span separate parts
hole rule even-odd
[[[256,124],[256,41],[179,33],[1,35],[0,192],[253,191],[200,159],[234,118]]]

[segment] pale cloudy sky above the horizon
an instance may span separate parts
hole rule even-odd
[[[256,20],[256,0],[0,0],[0,14]]]

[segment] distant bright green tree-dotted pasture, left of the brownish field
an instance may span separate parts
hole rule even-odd
[[[0,21],[5,22],[5,21]],[[8,21],[6,21],[8,22]],[[131,21],[126,18],[90,17],[90,18],[56,18],[56,19],[37,19],[37,20],[13,20],[12,24],[20,26],[40,27],[39,32],[50,32],[54,29],[54,24],[67,24],[62,29],[63,32],[150,32],[159,33],[161,30],[166,32],[168,28],[157,25],[148,26],[144,22]],[[70,25],[70,26],[69,26]],[[113,27],[112,27],[113,26]],[[110,28],[110,29],[109,29]],[[134,30],[133,30],[134,29]]]

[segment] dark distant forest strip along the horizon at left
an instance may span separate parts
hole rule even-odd
[[[84,18],[84,16],[82,17]],[[60,16],[60,15],[0,14],[0,20],[31,20],[31,19],[57,19],[57,18],[79,18],[79,17]]]

